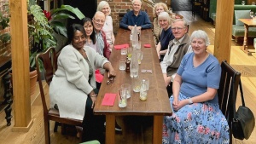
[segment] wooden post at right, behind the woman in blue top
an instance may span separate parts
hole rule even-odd
[[[231,30],[234,14],[234,0],[217,1],[214,55],[218,61],[230,62]]]

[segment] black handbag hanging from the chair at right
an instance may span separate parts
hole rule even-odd
[[[243,140],[248,139],[253,132],[255,125],[255,118],[253,112],[245,106],[243,99],[243,92],[241,88],[241,81],[239,82],[239,88],[241,92],[241,103],[242,106],[238,107],[236,112],[236,102],[233,105],[234,118],[232,120],[232,133],[236,139]],[[234,89],[235,90],[235,89]],[[235,98],[235,93],[233,93],[233,100]]]

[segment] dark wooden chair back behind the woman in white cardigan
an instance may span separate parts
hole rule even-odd
[[[46,100],[44,95],[44,88],[43,88],[42,79],[41,79],[40,66],[44,66],[44,71],[45,71],[44,78],[46,83],[49,85],[57,69],[57,58],[56,58],[55,48],[50,47],[44,53],[38,54],[36,56],[36,65],[37,65],[37,71],[38,71],[38,84],[39,84],[42,104],[44,108],[44,116],[46,116],[48,114],[48,108],[46,105]]]

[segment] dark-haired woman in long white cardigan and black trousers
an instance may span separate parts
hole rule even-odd
[[[93,115],[97,93],[95,67],[106,69],[109,78],[116,73],[104,56],[84,46],[83,26],[73,24],[67,36],[70,44],[61,49],[58,69],[49,85],[50,107],[56,104],[61,118],[84,119],[84,141],[102,141],[105,119]]]

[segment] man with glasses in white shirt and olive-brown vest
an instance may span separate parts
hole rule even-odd
[[[170,41],[164,60],[160,63],[169,96],[172,95],[172,81],[183,56],[192,52],[187,32],[188,24],[185,20],[173,21],[172,34],[175,38]]]

